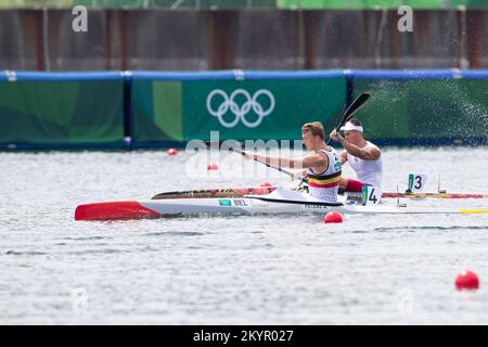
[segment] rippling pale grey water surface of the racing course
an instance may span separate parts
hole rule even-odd
[[[384,191],[488,192],[488,147],[387,149]],[[78,204],[288,184],[254,163],[164,151],[0,153],[1,324],[488,324],[488,216],[74,220]],[[190,164],[189,164],[190,163]],[[348,167],[346,175],[350,175]],[[394,202],[389,202],[394,203]],[[488,208],[488,200],[410,206]],[[458,292],[463,269],[477,292]]]

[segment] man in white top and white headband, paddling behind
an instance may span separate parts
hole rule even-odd
[[[344,151],[341,153],[341,162],[349,163],[355,170],[358,180],[341,180],[339,193],[359,193],[364,184],[382,187],[383,163],[380,147],[363,138],[362,124],[357,118],[351,118],[344,127],[344,138],[336,130],[331,132],[331,139],[338,141]]]

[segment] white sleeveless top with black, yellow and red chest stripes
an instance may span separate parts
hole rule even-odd
[[[329,158],[329,166],[321,174],[313,172],[307,168],[308,193],[317,198],[329,203],[337,202],[337,192],[341,183],[342,164],[337,152],[331,147],[331,151],[320,150]]]

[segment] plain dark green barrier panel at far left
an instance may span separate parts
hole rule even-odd
[[[0,143],[120,144],[123,81],[0,82]]]

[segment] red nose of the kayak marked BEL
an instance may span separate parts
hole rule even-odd
[[[75,220],[117,220],[158,217],[160,217],[158,213],[134,201],[85,204],[79,205],[75,210]]]

